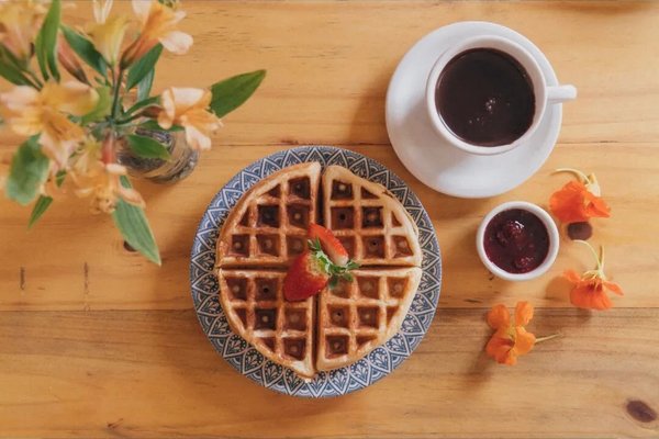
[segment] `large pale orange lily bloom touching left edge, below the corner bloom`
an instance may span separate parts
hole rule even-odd
[[[47,82],[41,91],[19,86],[0,93],[2,113],[11,128],[23,136],[41,133],[42,151],[55,161],[57,169],[66,167],[85,136],[82,127],[71,122],[67,114],[87,114],[98,99],[94,89],[77,81]]]

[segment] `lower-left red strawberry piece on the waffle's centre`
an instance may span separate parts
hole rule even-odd
[[[298,256],[283,278],[283,296],[287,301],[303,301],[321,292],[330,281],[314,251]]]

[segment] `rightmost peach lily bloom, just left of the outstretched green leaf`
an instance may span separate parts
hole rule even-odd
[[[158,124],[165,130],[181,125],[191,148],[210,149],[210,134],[222,126],[220,119],[208,110],[211,98],[209,90],[170,87],[160,97],[163,111]]]

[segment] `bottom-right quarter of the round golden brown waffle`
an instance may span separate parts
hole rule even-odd
[[[356,270],[320,294],[316,369],[348,365],[387,342],[401,327],[421,281],[421,269]]]

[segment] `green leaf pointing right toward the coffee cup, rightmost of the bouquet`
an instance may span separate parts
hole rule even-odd
[[[216,82],[211,86],[211,110],[222,117],[241,106],[256,91],[266,77],[266,70],[256,70]]]

